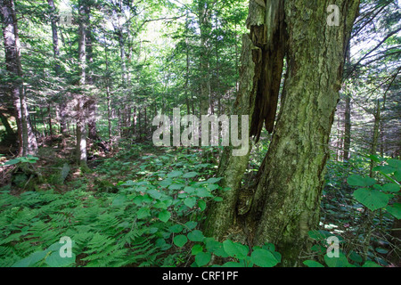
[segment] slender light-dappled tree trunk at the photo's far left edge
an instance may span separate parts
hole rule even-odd
[[[19,155],[37,153],[37,138],[29,122],[29,111],[23,90],[23,75],[20,64],[20,38],[13,0],[0,0],[3,23],[5,65],[12,82],[8,87],[15,110],[20,142]]]

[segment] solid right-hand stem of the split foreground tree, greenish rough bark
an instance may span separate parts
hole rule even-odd
[[[273,242],[282,265],[299,265],[319,222],[324,167],[358,0],[337,1],[340,26],[326,25],[330,1],[286,1],[288,71],[281,113],[248,216],[257,245]]]

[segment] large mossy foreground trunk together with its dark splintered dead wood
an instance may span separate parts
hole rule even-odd
[[[248,199],[250,210],[241,215],[245,216],[249,240],[255,245],[274,243],[282,253],[283,266],[300,265],[299,256],[307,249],[307,232],[318,225],[331,125],[359,1],[336,2],[340,26],[326,24],[330,4],[328,0],[250,2],[248,26],[253,46],[248,44],[247,49],[253,63],[242,67],[248,71],[242,70],[241,80],[253,73],[255,84],[249,85],[248,94],[240,92],[240,99],[246,95],[245,101],[254,101],[256,106],[254,111],[253,105],[249,108],[250,134],[258,139],[264,124],[268,131],[274,129],[274,136],[259,169],[253,198]],[[288,69],[274,127],[283,53]],[[221,168],[226,168],[224,162]],[[233,179],[230,171],[223,174],[225,182]],[[236,197],[240,194],[237,191]],[[207,228],[219,230],[208,233],[219,239],[224,237],[224,230],[233,221],[230,215],[235,216],[233,205],[239,204],[228,200],[215,206],[228,213],[212,216]],[[228,223],[222,221],[225,216],[230,217]]]

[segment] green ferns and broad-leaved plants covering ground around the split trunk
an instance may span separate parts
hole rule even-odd
[[[29,180],[37,179],[31,176],[43,161],[8,161],[2,168],[19,169],[20,175],[0,192],[0,266],[279,265],[281,255],[273,244],[250,248],[234,233],[218,242],[201,232],[209,201],[220,200],[221,178],[214,176],[216,159],[210,159],[218,154],[218,149],[122,142],[113,157],[90,162],[88,173],[66,167],[68,159],[53,161],[33,186]],[[309,232],[312,254],[303,256],[304,265],[399,261],[391,229],[401,213],[401,205],[393,203],[401,163],[374,159],[381,164],[374,169],[376,179],[365,177],[368,158],[329,163],[320,228]],[[252,159],[248,175],[258,163]],[[340,258],[327,256],[331,236],[340,240]],[[72,240],[71,257],[60,257],[61,237]]]

